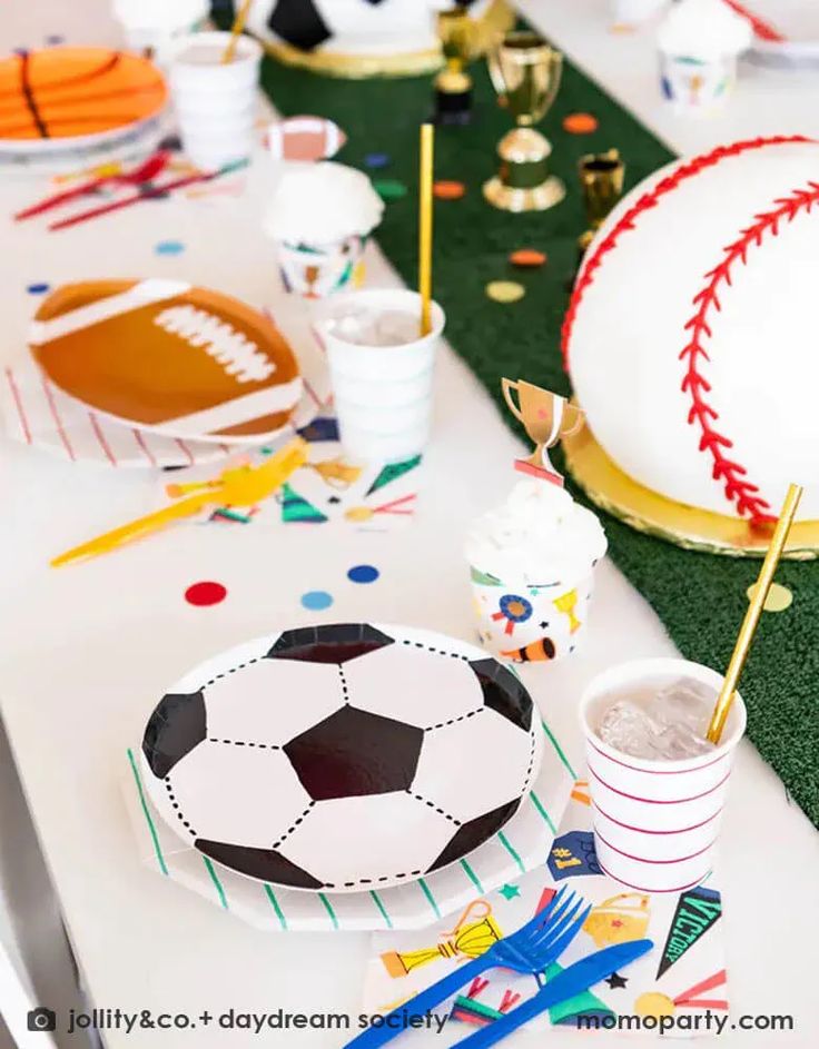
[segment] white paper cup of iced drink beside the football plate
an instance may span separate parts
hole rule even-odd
[[[424,451],[444,319],[433,303],[422,336],[421,296],[404,288],[348,291],[324,306],[318,331],[351,458],[401,463]]]

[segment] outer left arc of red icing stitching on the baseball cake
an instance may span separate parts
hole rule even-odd
[[[634,228],[634,224],[644,211],[655,208],[660,199],[677,189],[681,182],[693,178],[695,175],[699,175],[700,171],[714,167],[714,165],[719,164],[720,160],[724,160],[727,157],[738,157],[748,150],[762,149],[764,146],[787,146],[793,142],[812,141],[815,141],[815,139],[807,138],[805,135],[774,135],[769,138],[752,138],[741,142],[732,142],[730,146],[718,146],[717,149],[713,149],[709,154],[693,157],[691,160],[681,164],[671,175],[660,179],[653,189],[644,192],[642,197],[623,214],[620,221],[609,230],[601,243],[596,245],[578,277],[572,297],[569,300],[566,315],[563,318],[563,328],[561,331],[563,367],[569,370],[569,344],[572,338],[574,321],[583,296],[594,281],[594,274],[602,266],[605,256],[616,247],[620,237],[628,230]]]

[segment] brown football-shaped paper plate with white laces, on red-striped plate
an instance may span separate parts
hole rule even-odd
[[[278,329],[237,299],[179,280],[63,285],[29,334],[51,382],[129,426],[198,441],[266,441],[302,395]]]

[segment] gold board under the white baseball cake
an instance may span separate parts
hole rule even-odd
[[[588,426],[562,444],[569,472],[592,503],[638,532],[730,557],[761,557],[768,548],[770,534],[740,517],[675,503],[638,484],[609,458]],[[793,561],[819,556],[819,521],[792,526],[785,556]]]

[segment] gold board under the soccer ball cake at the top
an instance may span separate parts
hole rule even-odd
[[[506,0],[494,0],[475,19],[475,50],[483,55],[495,39],[514,26],[515,14]],[[302,51],[282,41],[259,39],[265,51],[284,66],[309,69],[325,77],[362,80],[368,77],[417,77],[441,68],[441,47],[392,55],[345,55],[341,51]]]

